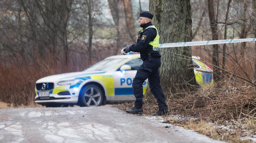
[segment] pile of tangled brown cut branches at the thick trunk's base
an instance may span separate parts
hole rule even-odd
[[[177,97],[177,94],[182,97]],[[194,92],[166,93],[166,95],[167,106],[173,114],[191,115],[209,121],[256,118],[256,88],[252,86],[199,88]],[[147,97],[144,102],[144,113],[151,114],[158,110],[154,98]]]

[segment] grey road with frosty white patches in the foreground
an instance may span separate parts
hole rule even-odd
[[[0,110],[0,142],[220,142],[115,107]]]

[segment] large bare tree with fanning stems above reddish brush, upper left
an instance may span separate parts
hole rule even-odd
[[[48,39],[44,41],[45,44],[52,47],[52,51],[55,54],[60,52],[63,55],[63,61],[68,62],[68,42],[67,42],[67,27],[70,18],[70,10],[73,0],[66,1],[39,1],[35,0],[20,0],[23,6],[26,16],[29,20],[30,27],[32,29],[32,40],[36,41],[36,32],[41,39]],[[39,16],[42,19],[36,17],[36,9],[38,10]],[[43,20],[43,23],[41,22]],[[36,29],[35,25],[39,25],[39,29]],[[58,46],[57,43],[61,43]],[[56,51],[56,47],[58,47]],[[40,48],[43,51],[43,48]]]

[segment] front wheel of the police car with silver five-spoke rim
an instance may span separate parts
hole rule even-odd
[[[81,95],[79,96],[80,106],[93,107],[101,106],[103,101],[103,94],[101,89],[96,85],[85,86]]]

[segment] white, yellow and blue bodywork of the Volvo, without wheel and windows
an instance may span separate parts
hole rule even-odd
[[[53,76],[48,76],[41,78],[36,81],[36,101],[35,103],[44,104],[44,103],[69,103],[76,104],[78,103],[78,97],[80,91],[88,84],[96,84],[101,86],[102,93],[106,97],[107,101],[115,100],[134,100],[134,95],[132,92],[132,80],[135,77],[137,72],[136,69],[120,71],[122,65],[127,64],[128,62],[134,61],[133,64],[140,66],[142,61],[140,61],[139,54],[129,54],[129,55],[117,55],[106,58],[107,59],[123,59],[115,65],[111,65],[114,68],[104,71],[81,71],[74,73],[65,73],[57,74]],[[90,67],[89,67],[90,68]],[[88,69],[89,69],[88,68]],[[79,79],[80,81],[75,85],[58,85],[60,81],[66,80],[75,80]],[[40,84],[45,84],[45,89],[39,86]],[[53,88],[47,90],[46,86],[49,83],[53,83]],[[37,87],[39,86],[39,87]],[[147,80],[143,84],[143,91],[146,91]],[[41,89],[40,89],[41,88]],[[42,93],[46,93],[45,95]],[[49,96],[48,95],[49,92]],[[61,92],[69,92],[70,95],[59,95]],[[46,97],[40,97],[46,96]]]

